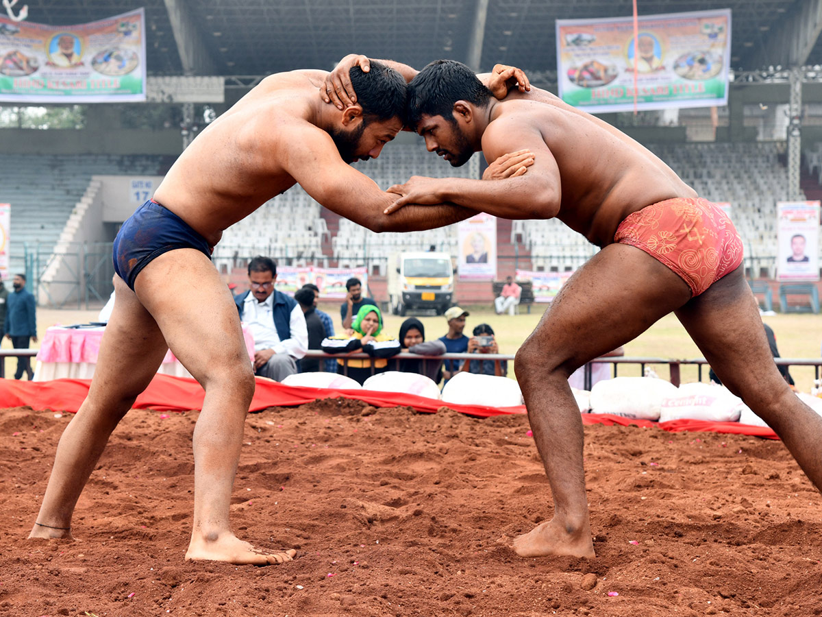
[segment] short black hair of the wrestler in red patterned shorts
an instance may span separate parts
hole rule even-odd
[[[485,107],[491,100],[491,90],[463,63],[435,60],[409,83],[405,120],[411,128],[417,127],[423,115],[442,116],[456,123],[454,104],[458,100]]]

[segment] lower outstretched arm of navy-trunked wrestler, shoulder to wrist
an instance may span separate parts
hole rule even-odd
[[[340,216],[376,232],[432,230],[477,214],[473,208],[442,203],[411,204],[394,216],[386,208],[398,198],[381,191],[365,174],[347,165],[329,134],[307,122],[284,122],[278,128],[280,165],[306,193]],[[318,173],[321,170],[321,173]]]

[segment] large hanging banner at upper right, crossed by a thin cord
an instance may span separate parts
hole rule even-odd
[[[559,95],[592,114],[727,104],[731,11],[556,20]],[[638,56],[636,62],[634,57]]]

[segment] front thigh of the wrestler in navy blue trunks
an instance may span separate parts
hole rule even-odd
[[[183,366],[203,383],[226,370],[251,372],[228,286],[203,253],[181,248],[150,262],[135,291]]]

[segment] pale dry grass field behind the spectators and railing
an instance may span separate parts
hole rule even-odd
[[[330,314],[335,321],[335,327],[339,332],[339,304],[321,304],[320,308]],[[499,343],[501,353],[514,354],[525,337],[537,326],[539,318],[542,317],[543,306],[534,304],[530,314],[521,314],[510,317],[509,315],[497,315],[492,308],[464,306],[471,314],[467,319],[465,333],[470,336],[473,327],[478,323],[486,322],[491,325],[496,332],[496,340]],[[94,321],[97,318],[98,310],[54,310],[40,308],[37,313],[38,332],[42,336],[46,327],[54,324],[68,325],[72,323],[83,323]],[[423,316],[418,318],[423,322],[427,339],[442,336],[448,330],[444,317]],[[783,358],[819,358],[820,344],[822,344],[822,317],[813,314],[776,314],[764,316],[764,322],[774,328],[777,338],[779,354]],[[397,334],[399,325],[403,318],[395,315],[386,315],[386,332]],[[11,348],[11,341],[3,340],[4,349]],[[37,345],[33,345],[37,347]],[[700,350],[696,348],[693,341],[681,327],[673,315],[661,319],[649,328],[647,332],[631,341],[625,346],[626,356],[633,357],[655,357],[674,359],[700,358]],[[16,359],[6,359],[6,375],[13,376],[16,367]],[[667,364],[654,364],[653,369],[660,377],[668,378]],[[639,375],[639,366],[621,366],[621,375]],[[813,367],[794,367],[791,374],[797,383],[797,389],[801,392],[810,392],[813,385]],[[513,375],[511,375],[513,377]],[[708,372],[703,371],[703,381],[707,381]],[[682,382],[697,381],[697,368],[695,366],[683,366],[681,373]]]

